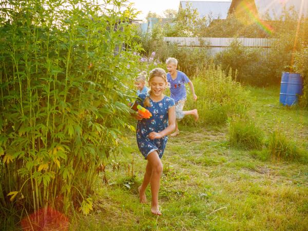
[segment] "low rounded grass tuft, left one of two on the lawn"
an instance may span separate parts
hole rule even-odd
[[[231,146],[244,149],[261,149],[263,132],[249,119],[234,117],[229,122],[229,142]]]

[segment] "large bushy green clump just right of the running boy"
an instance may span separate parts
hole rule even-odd
[[[198,125],[224,124],[234,114],[246,114],[249,108],[248,92],[220,66],[209,65],[192,82],[198,100],[195,102],[192,99],[189,87],[186,87],[188,99],[184,110],[198,109]],[[181,122],[189,126],[195,124],[191,117],[185,117]]]

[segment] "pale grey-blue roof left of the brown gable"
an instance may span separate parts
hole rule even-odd
[[[231,4],[231,0],[226,1],[180,1],[180,8],[185,9],[188,5],[191,8],[197,9],[200,17],[209,16],[215,19],[226,19],[228,15],[228,10]]]

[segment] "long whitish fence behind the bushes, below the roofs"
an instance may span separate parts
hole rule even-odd
[[[230,44],[237,40],[244,47],[262,48],[266,53],[271,48],[271,38],[230,38],[230,37],[164,37],[167,43],[176,43],[182,47],[204,47],[209,53],[215,55],[230,47]]]

